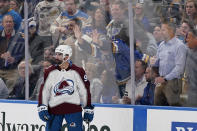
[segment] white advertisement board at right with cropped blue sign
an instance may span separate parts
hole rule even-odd
[[[197,131],[197,111],[147,109],[147,131]]]

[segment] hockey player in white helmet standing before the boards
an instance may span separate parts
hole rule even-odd
[[[82,122],[94,117],[91,105],[90,82],[85,71],[72,64],[72,48],[59,45],[55,49],[57,65],[45,70],[39,93],[38,113],[46,122],[46,131],[60,131],[63,119],[68,131],[82,131]],[[82,119],[82,107],[84,117]]]

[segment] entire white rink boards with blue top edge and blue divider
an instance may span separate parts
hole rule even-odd
[[[84,123],[85,131],[87,124]],[[44,131],[37,102],[0,100],[0,131]],[[62,131],[67,131],[64,122]],[[90,131],[197,131],[197,109],[95,104]]]

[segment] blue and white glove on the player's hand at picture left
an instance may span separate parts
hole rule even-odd
[[[50,119],[50,114],[48,112],[48,108],[46,105],[40,105],[38,107],[38,114],[41,120],[43,120],[44,122],[49,121]]]

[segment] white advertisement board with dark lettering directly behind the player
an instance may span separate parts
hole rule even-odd
[[[85,131],[87,124],[84,123]],[[132,131],[133,109],[95,107],[91,131]],[[45,131],[45,123],[38,117],[37,104],[0,103],[0,131]],[[62,131],[67,131],[66,122]]]

